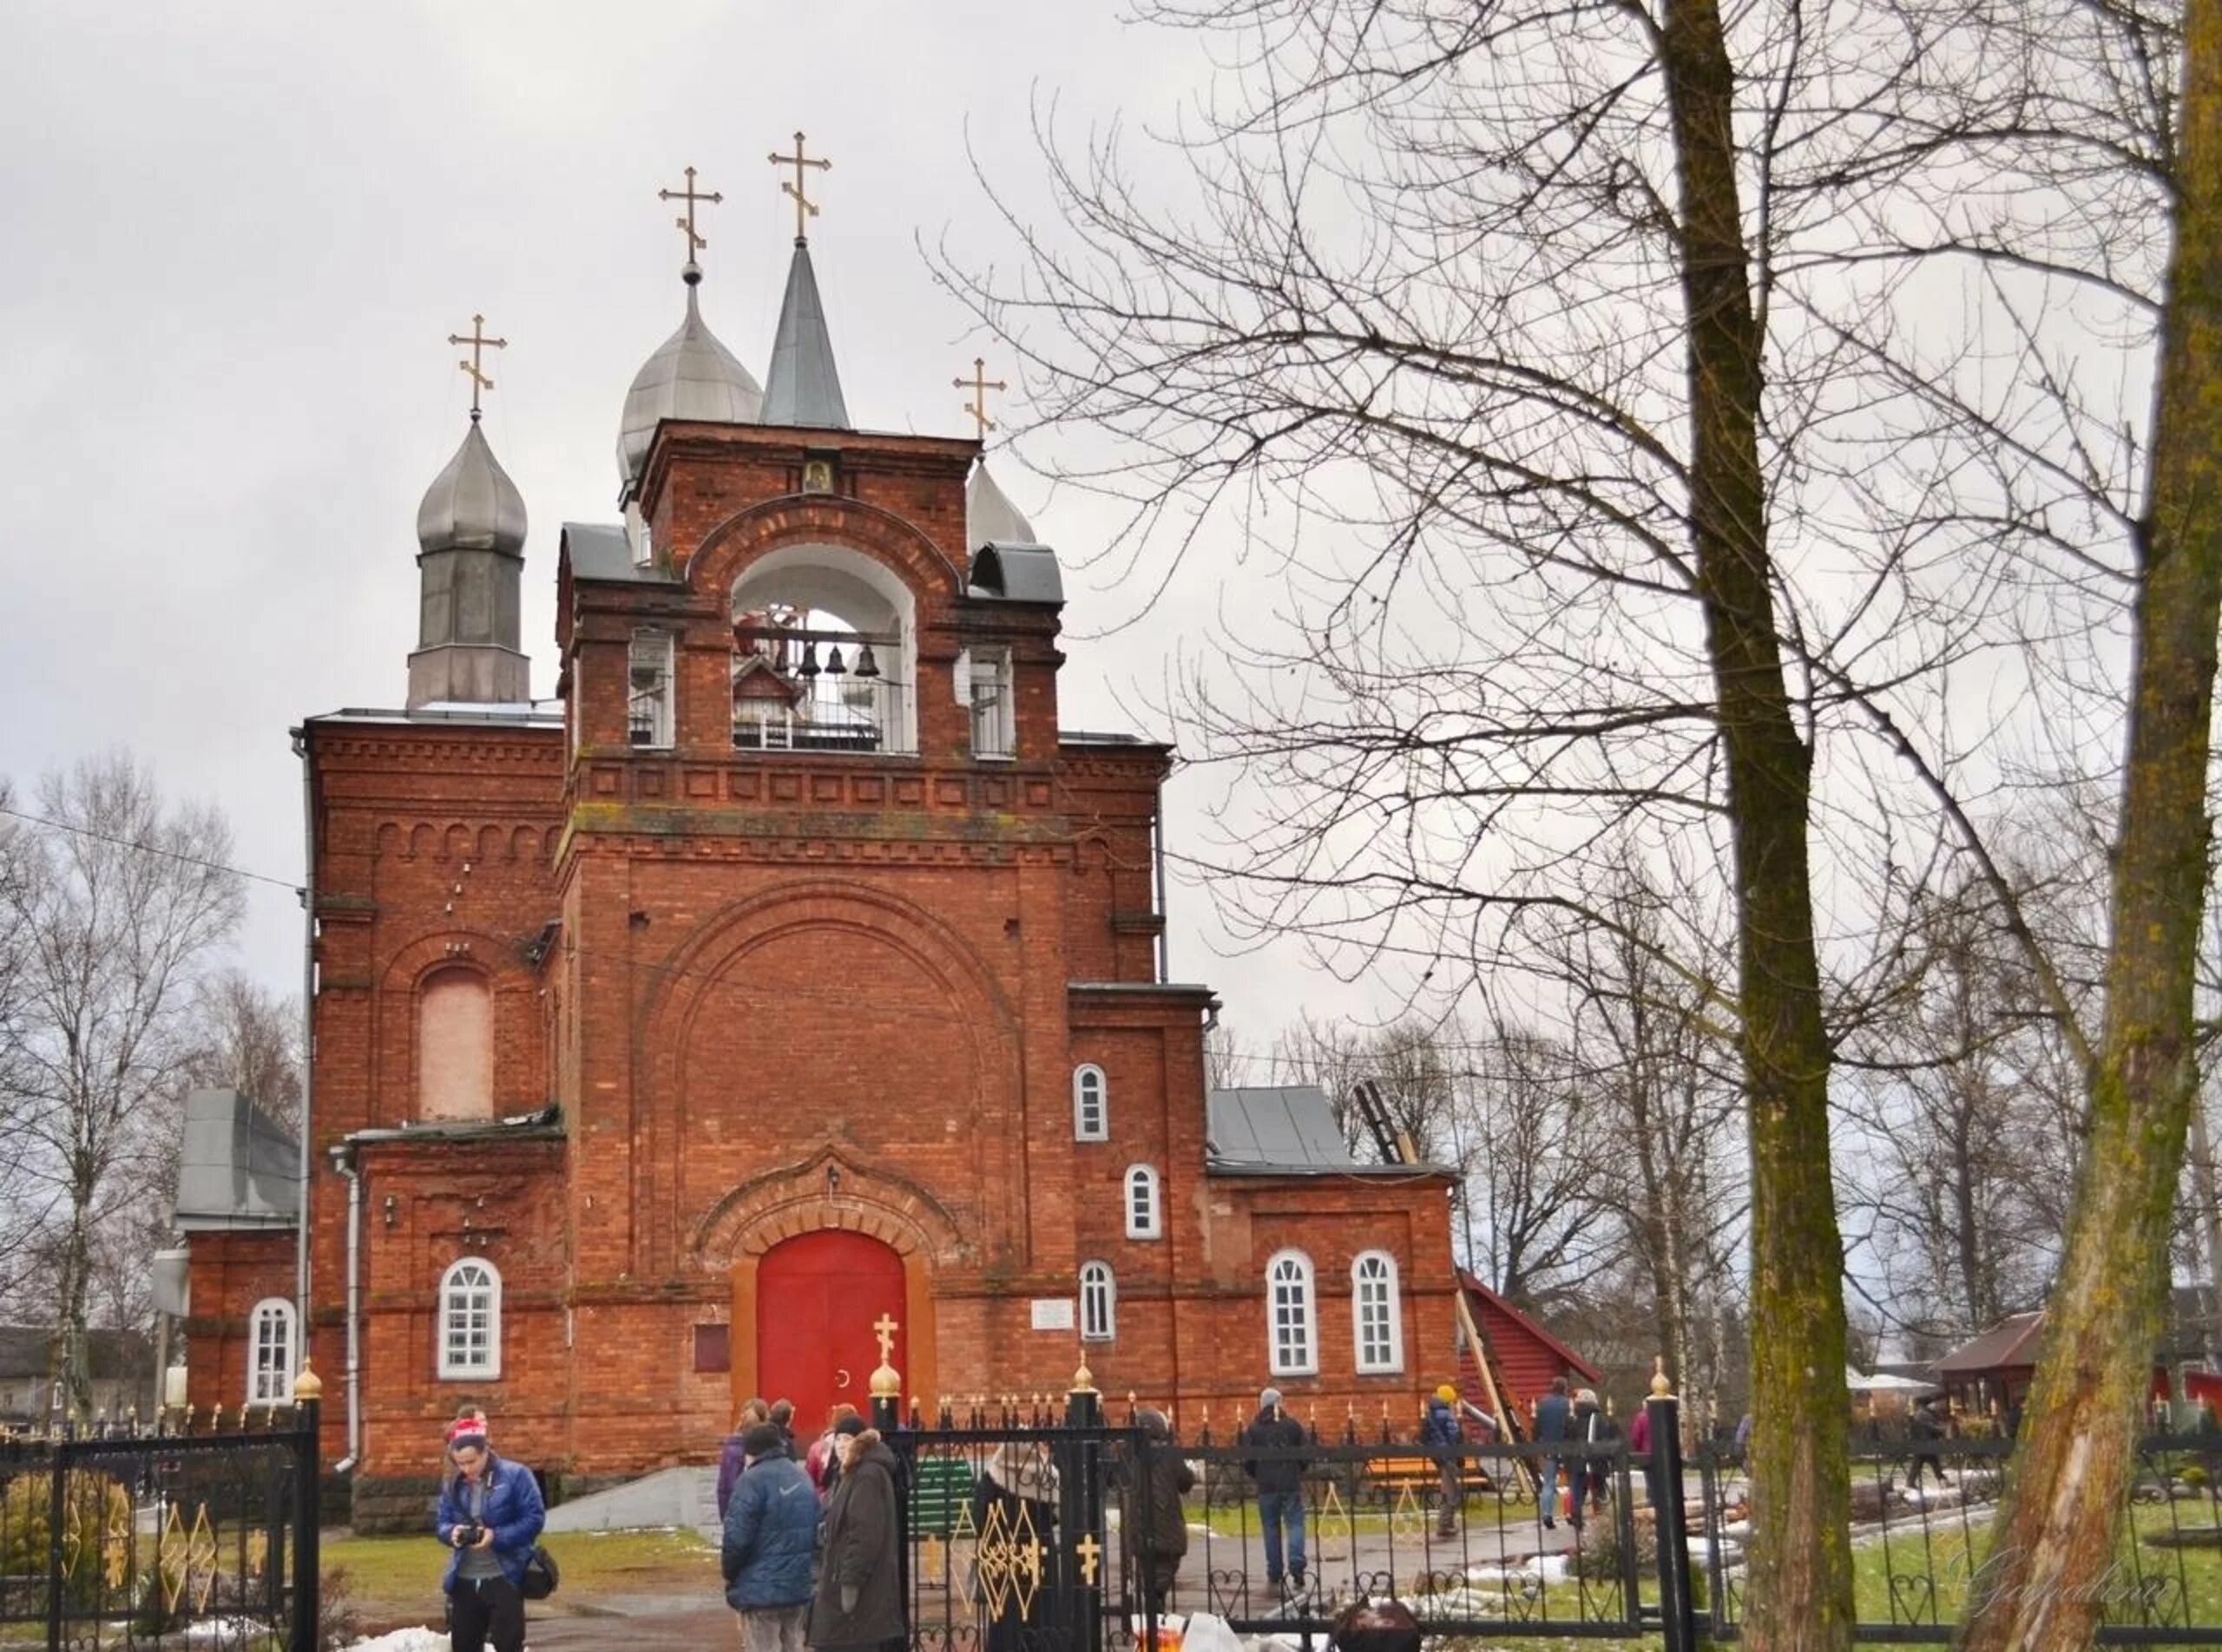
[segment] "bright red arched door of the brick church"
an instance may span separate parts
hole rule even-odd
[[[764,1252],[755,1272],[755,1370],[764,1399],[795,1401],[795,1437],[813,1439],[831,1406],[871,1419],[873,1326],[898,1321],[902,1363],[902,1257],[860,1232],[807,1232]]]

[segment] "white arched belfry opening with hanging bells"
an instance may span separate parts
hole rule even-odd
[[[733,582],[733,746],[918,753],[918,600],[884,564],[789,544]]]

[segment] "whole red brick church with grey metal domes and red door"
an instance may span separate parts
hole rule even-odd
[[[1358,1164],[1315,1090],[1207,1095],[1171,753],[1060,726],[1055,553],[978,440],[858,429],[804,240],[762,384],[698,284],[624,397],[622,522],[558,535],[556,699],[473,411],[404,704],[298,731],[307,1281],[284,1146],[202,1092],[191,1401],[309,1352],[358,1494],[467,1401],[627,1474],[709,1461],[751,1392],[862,1403],[887,1317],[927,1410],[1084,1359],[1182,1426],[1269,1381],[1415,1417],[1449,1175]]]

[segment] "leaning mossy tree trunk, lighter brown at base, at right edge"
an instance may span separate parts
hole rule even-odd
[[[2184,7],[2178,215],[2140,533],[2106,1032],[2066,1252],[1964,1645],[2091,1645],[2122,1541],[2198,1095],[2193,970],[2222,620],[2222,0]]]

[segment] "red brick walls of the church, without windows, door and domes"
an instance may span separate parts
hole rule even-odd
[[[569,555],[558,571],[560,724],[487,708],[304,726],[313,1363],[338,1457],[338,1150],[362,1197],[371,1490],[427,1474],[464,1401],[502,1450],[575,1477],[709,1461],[764,1379],[762,1259],[824,1228],[900,1257],[889,1312],[929,1406],[1062,1392],[1084,1352],[1109,1394],[1227,1421],[1267,1381],[1264,1266],[1284,1246],[1315,1270],[1318,1374],[1273,1379],[1300,1414],[1402,1423],[1449,1374],[1444,1177],[1207,1172],[1215,1006],[1155,979],[1169,753],[1060,737],[1055,604],[967,582],[975,455],[667,422],[640,495],[660,573],[587,577]],[[800,493],[807,457],[833,460],[831,493]],[[911,604],[915,755],[735,751],[735,582],[829,546]],[[673,639],[669,748],[629,737],[644,626]],[[951,682],[967,648],[1009,651],[1009,759],[971,753]],[[440,1008],[427,1048],[427,993],[464,977],[484,1006]],[[478,1026],[491,1119],[411,1130],[456,1110],[444,1061],[476,1059],[458,1039]],[[1107,1077],[1107,1141],[1075,1141],[1082,1061]],[[1155,1239],[1124,1230],[1138,1164],[1160,1177]],[[1362,1250],[1398,1263],[1393,1374],[1355,1372]],[[493,1379],[440,1377],[438,1286],[464,1257],[500,1272]],[[1118,1334],[1082,1350],[1035,1330],[1033,1306],[1071,1301],[1091,1259],[1113,1268]],[[242,1388],[247,1310],[289,1288],[289,1235],[193,1239],[196,1403]],[[720,1343],[722,1368],[704,1354]]]

